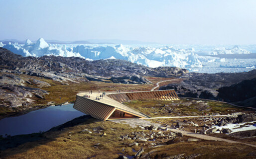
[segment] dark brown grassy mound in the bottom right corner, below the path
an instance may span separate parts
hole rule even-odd
[[[250,156],[250,153],[256,153],[254,148],[242,144],[235,145],[204,140],[198,142],[180,141],[156,149],[149,149],[148,152],[150,151],[152,152],[149,155],[151,159],[163,159],[180,154],[184,154],[184,157],[200,154],[196,159],[254,159],[254,155]]]

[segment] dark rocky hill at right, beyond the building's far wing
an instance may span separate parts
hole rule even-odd
[[[256,96],[256,70],[246,73],[217,73],[183,75],[180,83],[171,83],[159,89],[174,89],[181,97],[194,97],[228,102],[244,101]],[[251,100],[250,100],[251,101]],[[254,106],[251,102],[248,106]]]

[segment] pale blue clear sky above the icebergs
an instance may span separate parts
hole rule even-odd
[[[256,0],[0,0],[0,39],[256,44]]]

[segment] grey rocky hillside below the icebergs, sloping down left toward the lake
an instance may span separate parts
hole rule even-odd
[[[27,106],[35,100],[44,99],[45,94],[49,94],[45,88],[52,86],[46,80],[53,80],[62,85],[90,81],[148,84],[151,82],[142,76],[176,77],[186,73],[188,71],[185,69],[152,69],[125,60],[87,61],[78,57],[23,57],[0,48],[0,106]]]

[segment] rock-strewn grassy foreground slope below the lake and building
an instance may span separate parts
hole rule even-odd
[[[226,135],[229,130],[216,134],[216,130],[211,130],[209,124],[231,123],[231,119],[234,122],[248,122],[255,120],[255,117],[255,114],[237,114],[220,118],[199,118],[196,121],[175,119],[174,122],[152,122],[133,119],[129,120],[131,122],[103,122],[86,115],[47,132],[4,138],[0,140],[0,156],[4,159],[18,159],[29,155],[33,158],[40,156],[46,159],[60,152],[61,158],[72,159],[231,159],[229,157],[234,158],[235,154],[237,159],[254,159],[255,147],[190,137],[179,131],[188,131],[187,128],[190,128],[199,130],[196,133],[207,134],[209,137],[226,136],[228,140],[255,142],[254,138],[243,139],[244,136],[239,136],[238,133]],[[140,125],[136,125],[138,123]],[[255,133],[251,131],[247,134],[250,136]],[[47,153],[42,155],[45,151]]]

